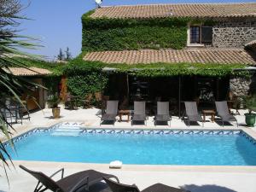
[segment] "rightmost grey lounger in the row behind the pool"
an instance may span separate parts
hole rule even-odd
[[[230,114],[228,103],[226,101],[223,102],[215,102],[216,111],[218,117],[222,121],[222,125],[224,126],[224,122],[236,121],[236,125],[238,126],[237,119]]]

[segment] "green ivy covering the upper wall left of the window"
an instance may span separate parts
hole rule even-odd
[[[106,30],[86,30],[83,50],[183,49],[187,43],[186,27],[137,26]]]

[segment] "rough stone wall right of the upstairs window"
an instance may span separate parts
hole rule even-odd
[[[212,45],[217,48],[241,48],[256,38],[256,20],[219,21],[212,27]]]

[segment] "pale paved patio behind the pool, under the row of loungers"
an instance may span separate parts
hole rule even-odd
[[[212,122],[211,116],[206,117],[206,122],[204,126],[201,126],[201,122],[199,124],[192,124],[187,126],[179,117],[172,116],[171,126],[168,125],[154,125],[154,116],[149,116],[147,119],[147,124],[145,125],[133,125],[131,126],[131,121],[127,122],[127,116],[122,117],[122,121],[119,122],[119,117],[116,117],[116,122],[113,123],[103,123],[100,125],[101,122],[101,110],[98,108],[78,108],[76,110],[68,110],[65,109],[64,106],[61,106],[61,118],[53,119],[51,108],[45,108],[43,110],[39,110],[38,112],[31,113],[31,120],[23,120],[23,124],[14,124],[14,136],[20,135],[21,132],[29,131],[36,127],[49,127],[51,125],[55,125],[58,123],[63,122],[79,122],[83,123],[84,127],[93,127],[93,128],[125,128],[125,129],[237,129],[236,123],[221,125],[221,122]],[[236,110],[231,109],[234,113]],[[236,115],[236,119],[238,122],[238,128],[246,128],[245,117],[244,113],[247,113],[247,110],[239,110],[239,115]],[[249,128],[249,131],[255,131],[256,133],[256,126],[253,128]]]

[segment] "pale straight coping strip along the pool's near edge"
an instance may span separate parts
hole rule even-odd
[[[236,173],[256,173],[256,166],[177,166],[177,165],[123,165],[120,169],[111,169],[109,164],[80,163],[80,162],[54,162],[54,161],[29,161],[13,160],[15,166],[27,167],[47,167],[58,169],[95,169],[113,170],[116,172],[138,171],[138,172],[236,172]]]

